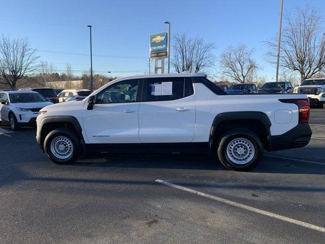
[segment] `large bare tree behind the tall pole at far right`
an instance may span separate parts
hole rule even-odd
[[[325,45],[321,42],[321,23],[320,13],[310,6],[298,7],[294,14],[284,15],[279,65],[286,70],[298,71],[301,81],[324,69]],[[266,59],[276,64],[277,37],[266,44],[269,47]]]

